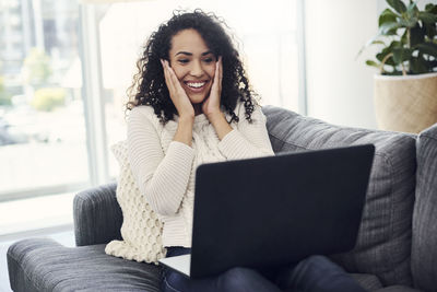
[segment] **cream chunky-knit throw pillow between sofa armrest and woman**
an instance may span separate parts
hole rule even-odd
[[[123,214],[123,241],[111,241],[106,245],[105,253],[129,260],[156,264],[166,254],[162,243],[163,223],[138,188],[128,160],[127,142],[114,144],[111,151],[120,164],[117,201]]]

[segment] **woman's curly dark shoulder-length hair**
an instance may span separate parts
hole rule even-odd
[[[180,31],[193,28],[202,36],[215,57],[222,56],[221,105],[231,116],[228,122],[239,120],[234,113],[238,100],[244,103],[246,119],[251,122],[253,103],[257,103],[258,95],[250,89],[239,54],[222,24],[226,25],[213,13],[204,13],[201,10],[175,11],[173,17],[162,24],[144,46],[144,51],[137,62],[139,72],[133,77],[132,85],[128,90],[130,102],[127,104],[127,109],[138,105],[149,105],[154,108],[162,124],[174,119],[177,109],[169,97],[161,59],[169,60],[173,36]]]

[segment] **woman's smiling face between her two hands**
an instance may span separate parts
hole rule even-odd
[[[209,96],[214,80],[216,58],[200,34],[192,28],[184,30],[172,38],[168,52],[172,69],[180,85],[199,108]],[[197,105],[197,106],[196,106]]]

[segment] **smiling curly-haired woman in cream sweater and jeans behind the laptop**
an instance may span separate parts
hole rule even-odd
[[[129,103],[132,173],[164,222],[167,256],[190,253],[196,167],[273,155],[265,117],[222,23],[175,14],[150,37]],[[321,256],[263,271],[234,268],[189,280],[163,268],[163,291],[364,291]],[[324,290],[322,290],[324,289]]]

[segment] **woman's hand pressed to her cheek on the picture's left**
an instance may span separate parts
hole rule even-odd
[[[175,71],[173,71],[167,60],[161,60],[161,63],[163,65],[164,69],[165,83],[167,84],[172,102],[178,112],[179,118],[194,118],[194,108],[192,107],[187,93],[182,86],[180,86]]]

